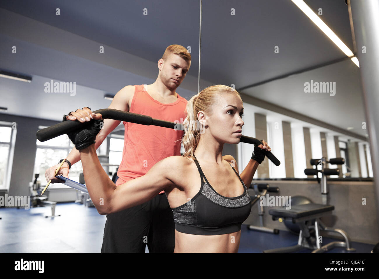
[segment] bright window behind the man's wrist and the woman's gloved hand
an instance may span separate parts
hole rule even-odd
[[[42,128],[46,127],[38,127],[38,129]],[[45,142],[40,142],[37,139],[34,173],[39,173],[39,178],[42,183],[45,180],[45,171],[50,167],[58,164],[60,159],[66,158],[72,148],[74,148],[74,144],[70,141],[69,137],[66,134],[47,140]],[[81,161],[71,166],[69,178],[79,177],[80,172],[83,172]]]

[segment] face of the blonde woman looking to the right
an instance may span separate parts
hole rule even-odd
[[[205,128],[220,143],[237,144],[242,136],[243,102],[236,93],[216,97],[210,115],[205,117]]]

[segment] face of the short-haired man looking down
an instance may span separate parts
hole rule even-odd
[[[176,89],[182,83],[190,66],[191,61],[187,62],[177,54],[169,55],[166,60],[160,59],[158,67],[161,69],[161,81],[167,88]]]

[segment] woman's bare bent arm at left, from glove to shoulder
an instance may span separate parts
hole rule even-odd
[[[169,179],[173,170],[171,157],[157,162],[146,175],[116,186],[101,166],[94,144],[79,152],[89,196],[100,214],[115,213],[147,202],[174,186]]]

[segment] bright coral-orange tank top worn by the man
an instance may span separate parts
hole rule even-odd
[[[187,100],[179,96],[170,104],[154,100],[143,85],[135,85],[129,112],[149,115],[152,118],[183,123]],[[145,175],[155,163],[169,156],[180,156],[183,131],[153,125],[122,122],[125,126],[124,151],[116,185]],[[163,191],[161,192],[163,193]]]

